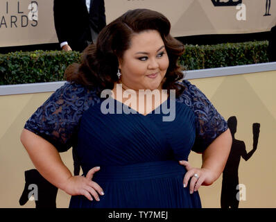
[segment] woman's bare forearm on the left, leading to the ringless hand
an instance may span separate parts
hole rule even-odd
[[[64,190],[71,171],[64,165],[56,148],[42,137],[24,129],[21,142],[37,171],[51,184]]]

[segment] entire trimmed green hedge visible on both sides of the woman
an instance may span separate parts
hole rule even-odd
[[[268,41],[186,45],[180,64],[187,70],[268,62]],[[76,51],[33,51],[0,54],[0,85],[64,80],[64,70],[80,62]]]

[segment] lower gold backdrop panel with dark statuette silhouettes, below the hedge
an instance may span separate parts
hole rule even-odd
[[[212,101],[234,133],[230,168],[213,185],[200,187],[202,207],[221,207],[235,200],[239,207],[276,207],[276,71],[190,80]],[[20,142],[26,120],[52,92],[0,96],[0,207],[35,207],[35,201],[19,205],[24,171],[33,163]],[[259,137],[257,137],[259,135]],[[253,150],[254,141],[257,146]],[[73,172],[71,149],[60,153]],[[201,166],[201,155],[191,152],[189,162]],[[236,171],[231,171],[236,169]],[[222,190],[223,183],[231,190]],[[234,183],[234,187],[233,184]],[[221,200],[225,195],[226,198]],[[58,190],[57,207],[68,207],[70,196]]]

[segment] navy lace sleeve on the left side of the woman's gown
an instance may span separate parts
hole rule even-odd
[[[95,103],[96,96],[81,85],[65,83],[26,121],[24,128],[49,141],[59,152],[74,143],[83,111]]]

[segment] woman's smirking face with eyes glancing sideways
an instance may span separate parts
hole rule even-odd
[[[150,30],[132,36],[130,48],[119,60],[121,83],[130,89],[162,89],[162,80],[169,67],[162,37]]]

